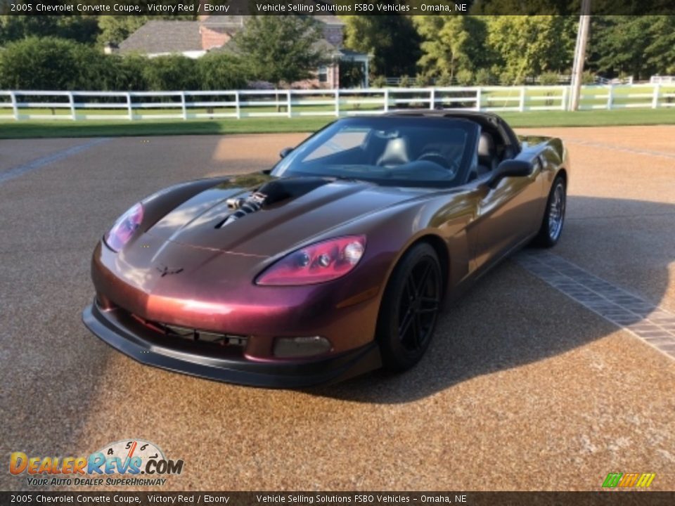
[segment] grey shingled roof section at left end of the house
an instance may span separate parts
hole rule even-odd
[[[120,43],[122,53],[182,53],[200,51],[198,21],[150,20]]]

